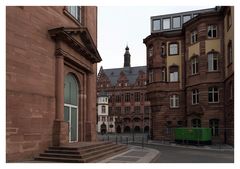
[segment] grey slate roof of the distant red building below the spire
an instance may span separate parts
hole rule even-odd
[[[124,68],[114,68],[114,69],[102,69],[104,74],[111,81],[112,85],[116,85],[120,77],[121,72],[125,74],[128,79],[129,84],[134,84],[136,79],[139,76],[139,72],[143,71],[146,73],[146,66],[137,66],[137,67],[124,67]]]

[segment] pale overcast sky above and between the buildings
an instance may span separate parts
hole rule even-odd
[[[146,65],[146,47],[143,39],[150,35],[150,17],[215,6],[98,6],[98,51],[107,68],[121,68],[128,44],[131,66]]]

